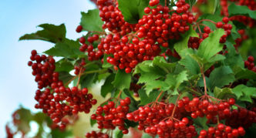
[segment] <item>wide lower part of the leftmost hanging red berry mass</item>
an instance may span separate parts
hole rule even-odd
[[[66,123],[62,123],[62,118],[66,115],[76,115],[78,112],[89,113],[93,105],[97,103],[93,95],[88,93],[88,89],[79,90],[77,87],[72,89],[65,88],[62,82],[52,83],[52,89],[44,91],[37,90],[35,93],[36,109],[42,109],[42,112],[50,116],[53,123],[60,123],[59,127],[64,129]],[[63,103],[63,102],[67,102]]]

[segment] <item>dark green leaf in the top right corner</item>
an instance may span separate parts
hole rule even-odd
[[[251,19],[256,19],[256,11],[252,11],[248,6],[244,5],[235,5],[234,3],[231,3],[231,5],[228,6],[228,13],[230,17],[234,15],[246,15],[251,17]]]

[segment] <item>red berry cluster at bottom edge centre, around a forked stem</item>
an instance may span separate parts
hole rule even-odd
[[[138,122],[138,130],[144,130],[151,136],[159,137],[194,137],[197,136],[192,121],[184,117],[185,110],[175,107],[173,103],[153,103],[152,106],[141,106],[127,119]],[[171,118],[170,116],[173,116]],[[180,120],[179,120],[180,119]]]

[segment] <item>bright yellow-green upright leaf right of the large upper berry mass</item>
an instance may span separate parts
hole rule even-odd
[[[224,29],[217,29],[209,35],[207,39],[204,39],[200,43],[198,49],[198,56],[203,59],[210,59],[212,56],[216,55],[217,52],[221,52],[223,49],[223,44],[220,43],[221,36],[224,35]]]

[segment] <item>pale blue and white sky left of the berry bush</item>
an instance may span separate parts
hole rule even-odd
[[[19,42],[19,37],[36,32],[43,23],[65,23],[66,37],[77,39],[80,12],[93,8],[89,0],[0,0],[0,137],[5,137],[5,123],[19,105],[38,111],[37,85],[27,62],[32,49],[42,53],[53,46],[38,40]]]

